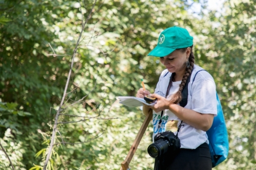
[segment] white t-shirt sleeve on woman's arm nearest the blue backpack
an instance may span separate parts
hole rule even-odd
[[[216,86],[208,72],[199,72],[191,86],[191,109],[217,115]]]

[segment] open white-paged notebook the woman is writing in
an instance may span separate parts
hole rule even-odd
[[[153,103],[147,103],[143,98],[137,98],[134,96],[119,96],[118,99],[120,100],[120,104],[124,104],[128,107],[138,107],[143,106],[143,104],[146,104],[148,106],[153,106],[156,104],[156,102]]]

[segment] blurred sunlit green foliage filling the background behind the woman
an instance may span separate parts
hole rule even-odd
[[[81,20],[93,4],[0,0],[0,142],[17,170],[44,164]],[[208,7],[207,1],[197,0],[97,1],[75,58],[65,104],[71,106],[62,112],[89,118],[62,115],[59,122],[79,122],[59,124],[56,138],[56,143],[85,143],[54,145],[48,169],[120,168],[144,115],[140,108],[119,105],[117,96],[135,95],[141,78],[153,92],[164,68],[147,53],[159,33],[174,25],[194,37],[196,63],[215,78],[221,98],[230,152],[214,169],[255,169],[256,3],[226,0],[221,9]],[[85,95],[82,103],[72,105]],[[151,132],[152,125],[132,169],[153,169],[147,154]],[[11,169],[3,151],[0,169]]]

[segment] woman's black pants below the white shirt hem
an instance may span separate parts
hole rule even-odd
[[[164,158],[163,158],[164,157]],[[177,153],[166,153],[159,158],[156,170],[212,170],[209,145],[201,144],[194,150],[180,149]]]

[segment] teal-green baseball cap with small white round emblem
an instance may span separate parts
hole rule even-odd
[[[175,49],[182,49],[193,45],[193,37],[188,31],[178,26],[173,26],[161,32],[157,46],[148,54],[155,57],[165,57]]]

